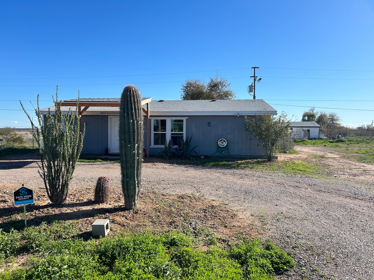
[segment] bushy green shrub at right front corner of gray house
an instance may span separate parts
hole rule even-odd
[[[260,141],[268,161],[272,161],[278,146],[289,139],[291,120],[285,113],[272,116],[269,113],[257,116],[245,116],[245,130]]]

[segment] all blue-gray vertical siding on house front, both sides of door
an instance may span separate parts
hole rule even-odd
[[[160,117],[162,118],[162,117]],[[82,155],[104,155],[108,143],[108,116],[83,115],[82,122],[86,122],[86,136],[83,140]],[[208,122],[210,126],[208,127]],[[186,120],[186,136],[192,136],[191,145],[196,146],[199,155],[213,155],[217,152],[218,140],[227,140],[230,155],[233,157],[258,157],[264,152],[257,139],[252,139],[244,128],[244,116],[188,116]],[[152,131],[150,120],[150,133]],[[151,135],[147,135],[144,125],[144,146]],[[161,148],[149,148],[150,155],[157,155]],[[221,150],[221,149],[219,149]],[[221,156],[215,153],[213,156]]]

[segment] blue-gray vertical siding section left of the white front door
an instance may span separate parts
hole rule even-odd
[[[104,155],[108,147],[108,116],[82,115],[81,121],[86,122],[82,155]]]

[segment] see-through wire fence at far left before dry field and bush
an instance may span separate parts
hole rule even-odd
[[[0,127],[0,151],[10,148],[37,149],[37,147],[31,128]]]

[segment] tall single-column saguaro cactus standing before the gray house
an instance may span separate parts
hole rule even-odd
[[[143,113],[140,92],[134,85],[126,85],[121,95],[119,112],[119,151],[122,191],[125,207],[138,206],[143,157]]]

